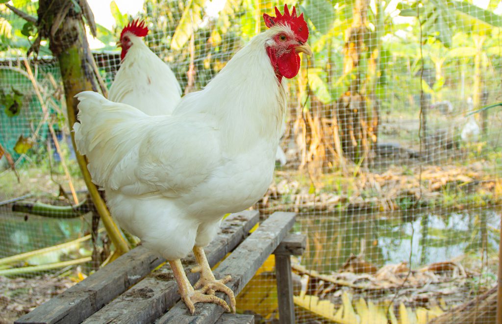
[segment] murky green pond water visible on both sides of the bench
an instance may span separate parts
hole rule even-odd
[[[65,220],[25,217],[4,207],[0,208],[0,258],[67,242],[90,230],[89,215]],[[479,253],[481,247],[497,251],[500,211],[300,214],[294,229],[307,234],[302,263],[310,269],[336,271],[351,254],[361,254],[377,267],[396,264],[409,260],[411,247],[416,268]],[[57,261],[62,255],[53,257]]]

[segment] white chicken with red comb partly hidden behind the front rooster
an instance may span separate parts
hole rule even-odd
[[[128,24],[117,45],[121,65],[108,92],[108,100],[127,103],[147,115],[171,114],[181,100],[181,87],[173,71],[143,42],[144,22]]]

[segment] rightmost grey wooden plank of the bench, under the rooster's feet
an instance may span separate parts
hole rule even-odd
[[[277,212],[265,220],[260,227],[244,240],[214,271],[217,277],[230,274],[232,280],[227,286],[237,295],[249,282],[260,266],[279,246],[295,222],[295,213]],[[228,296],[216,295],[228,302]],[[156,323],[203,324],[214,323],[223,313],[223,308],[214,303],[195,304],[191,315],[183,301],[179,301]]]

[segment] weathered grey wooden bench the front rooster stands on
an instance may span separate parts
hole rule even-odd
[[[235,295],[275,253],[281,323],[294,323],[290,256],[301,255],[305,249],[304,236],[288,235],[294,220],[294,213],[277,212],[249,235],[259,221],[259,213],[232,214],[205,248],[211,266],[231,252],[214,274],[216,278],[230,274],[232,280],[227,285]],[[180,300],[169,265],[152,272],[164,261],[138,246],[16,323],[254,323],[253,315],[223,314],[223,308],[212,303],[195,304],[195,314],[190,315]],[[194,284],[199,274],[190,272],[196,265],[193,254],[182,262]],[[218,292],[217,296],[228,302],[225,294]]]

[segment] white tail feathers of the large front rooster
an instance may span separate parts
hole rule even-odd
[[[84,91],[76,97],[80,101],[79,122],[73,125],[77,149],[90,161],[88,169],[93,182],[117,189],[120,177],[113,175],[135,168],[137,162],[131,153],[138,150],[141,143],[138,137],[148,129],[151,117],[96,92]]]

